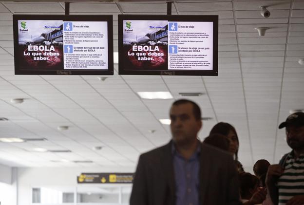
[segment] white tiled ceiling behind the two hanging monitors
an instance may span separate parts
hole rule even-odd
[[[165,1],[69,0],[70,14],[111,14],[117,52],[118,14],[166,14]],[[259,6],[268,6],[263,18]],[[179,93],[197,102],[204,139],[220,121],[235,126],[245,167],[278,162],[290,149],[278,124],[304,109],[304,0],[175,0],[172,14],[219,15],[219,75],[14,75],[13,14],[64,14],[64,2],[0,1],[0,137],[44,138],[0,143],[0,164],[15,167],[134,167],[140,153],[167,143],[168,118]],[[269,27],[259,37],[256,27]],[[173,99],[141,99],[136,92],[169,91]],[[21,104],[11,102],[24,98]],[[58,130],[58,126],[69,126]],[[94,147],[99,147],[93,149]],[[101,149],[100,149],[101,147]],[[37,152],[71,150],[71,152]],[[73,161],[92,161],[75,163]],[[247,170],[251,171],[251,170]]]

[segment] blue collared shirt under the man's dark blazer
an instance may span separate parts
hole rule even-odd
[[[186,160],[172,143],[173,168],[175,179],[175,205],[198,205],[199,195],[199,155],[201,146]]]

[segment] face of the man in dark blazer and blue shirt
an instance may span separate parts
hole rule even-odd
[[[202,127],[202,121],[196,120],[193,105],[185,103],[173,105],[170,111],[172,139],[177,144],[188,144],[196,139]]]

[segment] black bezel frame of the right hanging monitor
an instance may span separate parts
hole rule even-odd
[[[123,20],[168,20],[168,21],[201,21],[213,22],[213,70],[126,70],[118,63],[119,75],[218,75],[218,16],[217,15],[118,15],[118,59],[123,62]]]

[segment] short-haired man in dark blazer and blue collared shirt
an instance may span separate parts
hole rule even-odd
[[[169,144],[139,157],[130,205],[240,205],[231,155],[197,139],[197,104],[175,101],[170,118]]]

